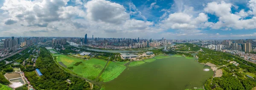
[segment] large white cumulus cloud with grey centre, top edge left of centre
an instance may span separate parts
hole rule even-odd
[[[86,5],[87,18],[94,21],[120,24],[130,16],[123,5],[106,0],[91,0]]]

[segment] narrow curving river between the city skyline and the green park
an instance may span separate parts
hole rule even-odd
[[[79,44],[76,44],[74,42],[70,42],[67,41],[68,43],[70,43],[70,45],[73,46],[78,46]],[[175,44],[172,44],[175,45]],[[171,45],[169,45],[171,46]],[[83,46],[79,46],[79,48],[83,48],[86,50],[91,50],[91,51],[97,51],[97,52],[111,52],[111,53],[126,53],[126,52],[137,52],[137,51],[145,51],[145,50],[152,50],[154,48],[145,48],[145,49],[128,49],[128,50],[106,50],[106,49],[95,49],[95,48],[90,48],[90,47],[83,47]],[[160,48],[163,48],[163,46],[161,46]]]

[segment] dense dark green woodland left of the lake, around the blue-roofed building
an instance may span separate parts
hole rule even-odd
[[[90,90],[88,82],[60,69],[45,48],[41,48],[36,68],[40,69],[43,76],[39,77],[35,71],[25,72],[27,79],[36,90]],[[67,79],[71,80],[71,84],[66,82]]]

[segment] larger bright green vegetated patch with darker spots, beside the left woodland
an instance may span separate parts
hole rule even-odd
[[[98,76],[106,64],[106,61],[96,58],[82,60],[66,55],[57,56],[57,62],[62,62],[68,69],[86,78],[88,76]]]

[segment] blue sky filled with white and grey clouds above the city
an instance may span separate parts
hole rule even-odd
[[[256,0],[0,0],[0,37],[256,38]]]

